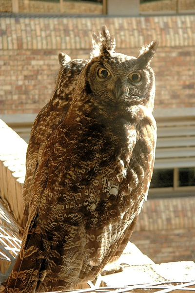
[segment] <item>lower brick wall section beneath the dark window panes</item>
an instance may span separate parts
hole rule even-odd
[[[131,241],[155,263],[195,261],[195,197],[146,201]]]

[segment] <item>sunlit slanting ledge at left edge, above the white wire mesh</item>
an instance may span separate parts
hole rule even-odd
[[[22,185],[27,143],[0,120],[0,197],[16,221],[23,213]]]

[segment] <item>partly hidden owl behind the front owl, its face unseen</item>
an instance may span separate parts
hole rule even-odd
[[[26,176],[22,192],[24,214],[20,223],[20,236],[28,219],[33,179],[40,163],[42,151],[51,133],[64,120],[72,103],[78,75],[87,62],[88,60],[85,59],[71,60],[67,54],[59,53],[60,69],[56,87],[51,100],[42,108],[33,123],[26,152]]]

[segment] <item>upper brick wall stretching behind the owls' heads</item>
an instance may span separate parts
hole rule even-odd
[[[38,113],[50,99],[58,53],[89,58],[91,32],[106,24],[117,51],[133,56],[159,40],[152,61],[156,108],[195,105],[195,15],[140,18],[0,18],[0,114]]]

